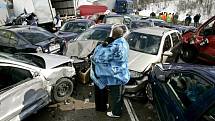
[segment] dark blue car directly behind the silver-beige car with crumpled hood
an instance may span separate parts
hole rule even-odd
[[[58,37],[64,38],[67,42],[74,40],[82,32],[95,25],[95,22],[90,19],[76,19],[66,22],[58,32],[55,33]]]

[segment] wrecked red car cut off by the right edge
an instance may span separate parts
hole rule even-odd
[[[188,63],[200,60],[204,64],[215,64],[215,16],[196,31],[183,34],[181,58]]]

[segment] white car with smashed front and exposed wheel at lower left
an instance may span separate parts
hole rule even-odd
[[[0,121],[19,121],[73,92],[73,60],[54,54],[0,53]]]

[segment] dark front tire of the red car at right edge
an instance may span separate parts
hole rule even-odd
[[[198,55],[197,49],[192,45],[183,45],[180,51],[180,57],[184,62],[191,63]]]

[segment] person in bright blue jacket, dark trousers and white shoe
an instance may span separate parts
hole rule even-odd
[[[120,117],[122,114],[123,88],[130,79],[128,50],[123,29],[116,27],[112,39],[98,45],[91,58],[91,79],[100,89],[106,86],[110,89],[112,111],[107,112],[109,117]]]

